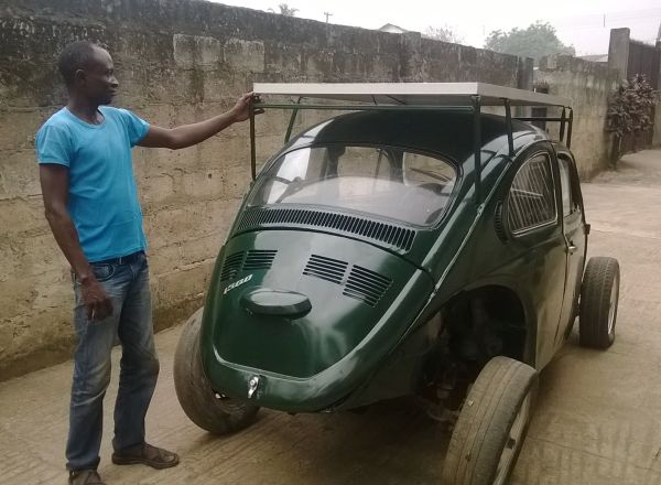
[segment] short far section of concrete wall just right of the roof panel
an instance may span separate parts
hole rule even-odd
[[[606,132],[606,112],[618,80],[616,69],[570,55],[544,57],[535,71],[535,84],[546,84],[549,94],[572,100],[572,151],[582,179],[608,166],[610,134]],[[557,133],[557,125],[550,123],[550,131]]]

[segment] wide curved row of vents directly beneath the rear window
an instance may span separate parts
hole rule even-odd
[[[263,226],[314,226],[356,234],[386,242],[408,251],[413,245],[415,230],[358,216],[300,208],[253,208],[246,211],[238,230]]]

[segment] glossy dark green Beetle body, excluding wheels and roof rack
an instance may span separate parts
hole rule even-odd
[[[470,112],[359,111],[289,142],[251,185],[212,277],[199,344],[214,391],[286,412],[316,412],[420,392],[452,360],[447,348],[477,368],[499,354],[543,368],[575,317],[588,226],[570,150],[512,121],[510,157],[506,127],[505,118],[481,115],[477,202]],[[263,203],[260,191],[268,184],[282,182],[281,197],[293,184],[273,175],[273,168],[284,166],[279,161],[296,153],[312,160],[314,150],[327,155],[333,147],[389,153],[390,176],[400,177],[402,187],[402,165],[395,166],[401,153],[429,157],[452,168],[445,169],[454,171],[452,184],[438,196],[443,202],[423,214],[426,219],[413,222],[389,217],[386,205],[375,214]],[[554,217],[549,205],[535,206],[538,195],[512,185],[532,159],[545,160],[525,170],[534,177],[546,164]],[[300,183],[291,193],[296,191],[310,185]],[[424,205],[420,193],[408,201],[404,188],[392,211]],[[516,230],[525,211],[545,220]],[[448,328],[442,349],[440,336]]]

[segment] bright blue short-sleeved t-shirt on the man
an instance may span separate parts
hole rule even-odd
[[[39,163],[68,166],[67,209],[90,262],[147,248],[131,149],[149,123],[126,109],[99,110],[104,121],[90,125],[63,108],[36,133]]]

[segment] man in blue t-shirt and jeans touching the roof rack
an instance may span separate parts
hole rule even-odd
[[[110,351],[122,345],[115,405],[112,462],[175,466],[178,456],[144,441],[144,417],[159,360],[153,342],[142,212],[131,148],[189,147],[248,118],[251,94],[229,111],[164,129],[128,110],[107,107],[119,86],[107,51],[90,42],[67,45],[59,72],[65,108],[36,136],[45,215],[72,266],[77,346],[66,445],[69,484],[102,484],[97,473],[102,399],[110,380]]]

